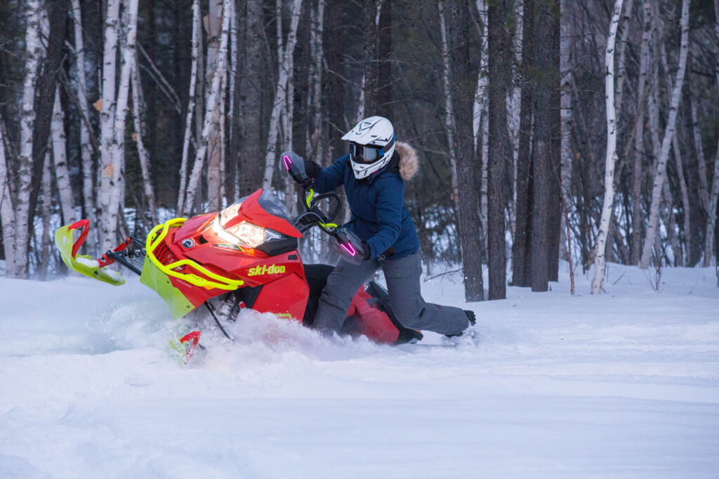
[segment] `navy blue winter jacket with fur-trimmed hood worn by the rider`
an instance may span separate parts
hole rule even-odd
[[[404,180],[417,170],[416,152],[398,142],[390,163],[364,180],[352,172],[349,154],[336,159],[313,180],[316,192],[324,193],[344,186],[352,218],[344,226],[367,242],[371,258],[387,252],[388,259],[400,259],[419,249],[417,231],[404,205]],[[394,247],[394,254],[390,248]]]

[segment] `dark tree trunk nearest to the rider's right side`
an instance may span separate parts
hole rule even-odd
[[[469,1],[452,2],[449,18],[464,298],[467,301],[481,301],[484,299],[482,243],[477,234],[480,218],[476,208],[478,192],[475,190],[475,144],[472,131],[472,104],[477,74],[472,70],[470,62]]]

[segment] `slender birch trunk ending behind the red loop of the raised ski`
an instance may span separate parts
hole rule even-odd
[[[90,108],[88,108],[87,99],[87,82],[85,78],[85,45],[83,41],[83,25],[82,13],[80,9],[80,0],[73,0],[73,18],[75,27],[75,71],[78,75],[78,101],[80,103],[80,113],[83,118],[80,121],[80,154],[83,165],[83,205],[85,205],[86,219],[90,223],[95,221],[95,204],[93,201],[93,162],[92,149],[90,147]],[[93,229],[93,233],[95,230]],[[93,234],[88,235],[86,246],[93,248]],[[88,251],[89,251],[88,249]]]

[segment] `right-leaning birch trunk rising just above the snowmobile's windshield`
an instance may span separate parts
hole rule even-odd
[[[270,129],[267,134],[267,154],[265,154],[265,175],[262,178],[262,187],[267,190],[272,186],[273,172],[276,164],[276,149],[280,126],[280,113],[287,101],[287,85],[290,75],[290,68],[293,65],[293,55],[297,43],[297,27],[300,22],[302,0],[294,0],[292,7],[292,18],[290,19],[290,32],[287,35],[287,42],[283,48],[282,68],[278,72],[277,88],[275,88],[275,101],[272,113],[270,113]]]

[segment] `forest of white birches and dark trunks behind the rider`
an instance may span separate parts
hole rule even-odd
[[[605,259],[716,264],[718,94],[719,0],[1,0],[0,259],[52,278],[60,224],[96,257],[259,187],[296,212],[278,154],[330,164],[377,114],[467,300],[560,259],[600,292]]]

